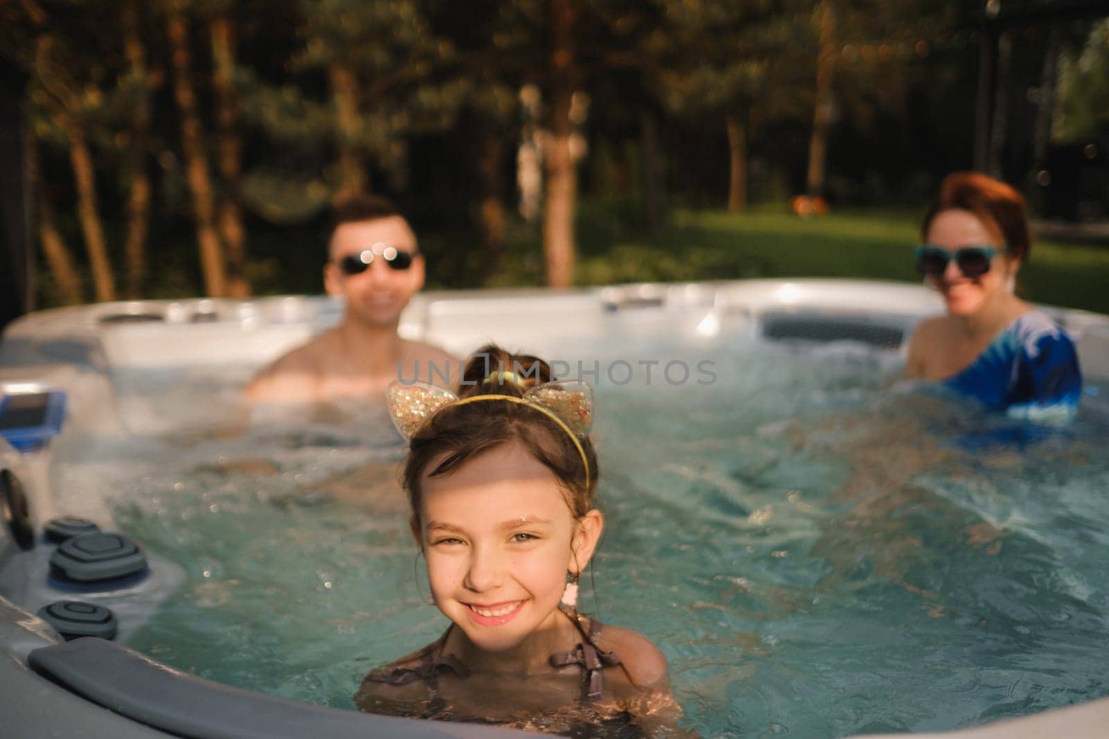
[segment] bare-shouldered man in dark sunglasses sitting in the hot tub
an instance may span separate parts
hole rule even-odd
[[[324,286],[343,298],[343,319],[262,370],[246,388],[252,402],[380,398],[398,373],[441,382],[461,367],[438,347],[397,335],[401,311],[424,287],[424,257],[396,206],[359,196],[337,206],[333,222]]]

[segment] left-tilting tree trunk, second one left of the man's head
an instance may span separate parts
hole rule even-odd
[[[187,21],[180,13],[171,13],[166,18],[166,31],[173,55],[174,97],[181,112],[181,148],[185,158],[185,177],[193,194],[204,289],[211,297],[223,297],[227,292],[227,275],[223,247],[214,225],[212,178],[204,151],[204,133],[196,111],[196,92],[193,90]]]

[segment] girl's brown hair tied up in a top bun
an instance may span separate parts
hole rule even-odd
[[[462,369],[459,398],[510,396],[522,398],[530,388],[551,382],[550,366],[528,355],[510,355],[488,345],[475,352]],[[509,443],[518,443],[551,471],[562,487],[570,513],[580,519],[593,507],[597,491],[597,453],[588,437],[579,437],[591,474],[587,475],[573,440],[552,419],[527,404],[471,402],[446,406],[409,440],[401,483],[408,492],[413,517],[419,523],[424,476],[449,475],[474,458]],[[588,486],[587,482],[589,481]]]

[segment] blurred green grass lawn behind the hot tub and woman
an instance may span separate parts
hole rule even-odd
[[[912,257],[919,217],[868,211],[803,219],[781,207],[743,214],[682,211],[650,234],[586,205],[578,220],[578,283],[751,277],[919,281]],[[1109,245],[1035,243],[1018,291],[1035,302],[1109,314]]]

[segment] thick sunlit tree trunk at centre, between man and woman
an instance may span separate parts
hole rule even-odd
[[[573,283],[573,206],[578,177],[570,140],[573,125],[570,105],[574,89],[573,25],[577,8],[573,0],[551,0],[551,115],[550,135],[543,163],[547,167],[543,202],[543,256],[547,284],[570,287]]]

